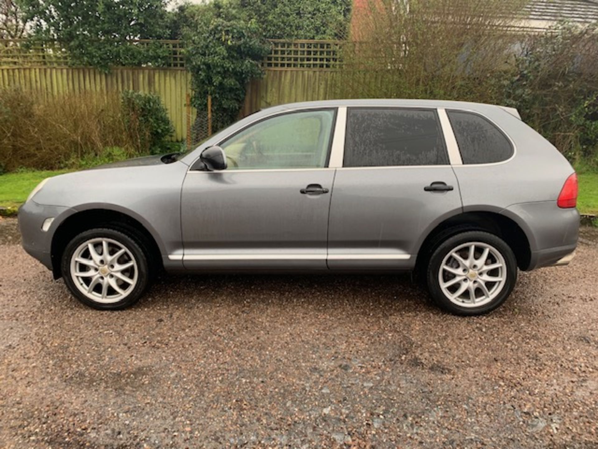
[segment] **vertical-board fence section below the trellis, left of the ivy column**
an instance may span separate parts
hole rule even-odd
[[[168,68],[114,68],[105,73],[90,67],[0,67],[0,89],[20,87],[47,98],[62,93],[108,94],[126,89],[160,96],[175,127],[173,139],[187,135],[185,97],[191,92],[191,74]]]

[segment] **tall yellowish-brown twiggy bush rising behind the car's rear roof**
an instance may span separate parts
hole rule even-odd
[[[489,74],[512,59],[508,31],[522,0],[370,0],[359,18],[338,95],[492,98]],[[355,26],[353,32],[356,32]]]

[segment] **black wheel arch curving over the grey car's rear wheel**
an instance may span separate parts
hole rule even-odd
[[[416,273],[419,275],[428,265],[432,251],[441,241],[466,230],[482,230],[502,238],[515,254],[521,270],[529,269],[532,261],[533,239],[514,217],[499,213],[501,209],[470,210],[454,214],[426,230],[420,241],[416,257]]]

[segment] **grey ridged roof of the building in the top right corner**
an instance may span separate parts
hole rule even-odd
[[[569,20],[590,23],[598,21],[598,2],[591,0],[532,0],[526,7],[532,20]]]

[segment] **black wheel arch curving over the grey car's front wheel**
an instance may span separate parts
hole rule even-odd
[[[54,231],[50,256],[55,279],[62,276],[60,260],[68,242],[84,230],[102,226],[132,233],[135,238],[147,247],[148,257],[151,257],[151,265],[157,269],[162,268],[163,243],[146,220],[132,211],[123,211],[120,207],[92,204],[77,208],[75,213],[66,217]]]

